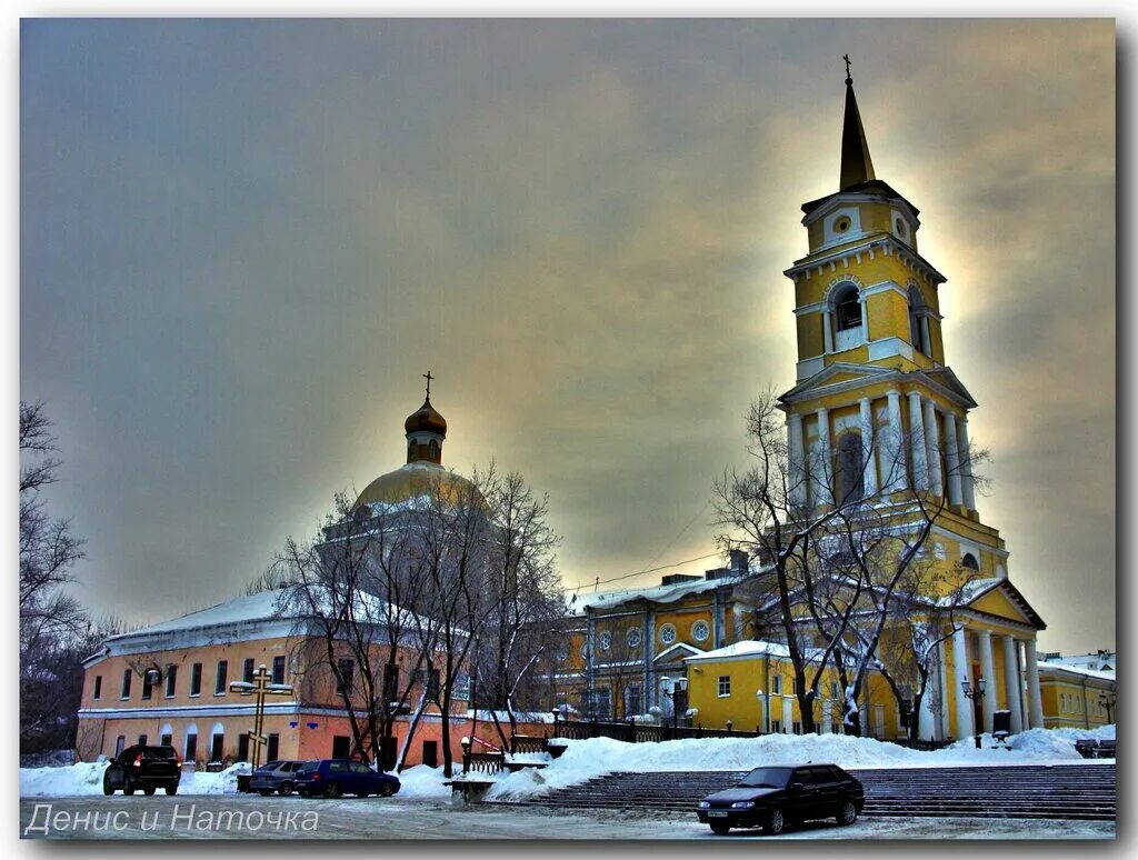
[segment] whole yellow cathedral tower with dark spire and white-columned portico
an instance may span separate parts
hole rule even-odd
[[[1013,733],[1042,727],[1036,637],[1045,625],[1012,584],[1004,540],[978,510],[968,438],[976,403],[948,364],[947,279],[921,255],[917,208],[874,171],[849,75],[838,190],[802,212],[808,253],[784,273],[794,284],[797,384],[780,398],[792,502],[817,511],[853,493],[888,507],[913,491],[932,503],[926,547],[960,572],[962,588],[954,596],[959,629],[937,648],[920,736],[990,731],[997,711],[1009,712]],[[688,662],[715,672],[716,660]],[[982,695],[965,695],[981,687]],[[863,712],[894,711],[884,685],[876,688],[884,698],[863,703]],[[745,698],[742,725],[751,725],[756,695]],[[723,710],[714,705],[703,712]],[[783,730],[790,719],[787,708]],[[898,721],[876,720],[890,723],[889,734]]]

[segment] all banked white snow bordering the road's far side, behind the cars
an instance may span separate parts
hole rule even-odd
[[[487,800],[519,799],[585,782],[617,770],[748,770],[758,764],[827,761],[847,768],[955,767],[974,764],[1055,764],[1081,762],[1074,742],[1079,738],[1113,738],[1114,726],[1081,729],[1031,729],[1011,738],[1012,750],[987,749],[962,741],[946,750],[921,752],[873,738],[844,735],[765,735],[741,738],[686,738],[662,743],[628,744],[604,737],[569,741],[563,755],[543,770],[522,770],[498,778]],[[20,768],[22,797],[59,797],[102,793],[106,762],[80,762],[69,767]],[[234,764],[220,774],[183,772],[179,795],[236,794],[238,774],[248,766]],[[399,774],[398,797],[445,799],[442,769],[423,766]]]

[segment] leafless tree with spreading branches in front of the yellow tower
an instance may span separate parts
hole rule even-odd
[[[947,494],[917,489],[906,470],[907,441],[873,427],[867,439],[843,439],[836,456],[819,444],[798,462],[785,439],[783,408],[768,392],[748,415],[754,465],[716,483],[718,522],[732,529],[720,541],[749,548],[762,576],[774,580],[803,731],[815,730],[818,686],[833,665],[844,729],[860,734],[857,703],[868,672],[881,663],[882,635],[907,611],[894,598],[913,580],[947,504]],[[972,476],[980,456],[959,452],[949,466]],[[876,469],[867,476],[874,464],[880,476]],[[810,659],[811,652],[818,656]]]

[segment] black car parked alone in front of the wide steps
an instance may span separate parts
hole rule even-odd
[[[719,835],[732,827],[782,833],[786,825],[833,816],[851,825],[865,805],[861,784],[836,764],[756,768],[734,788],[709,794],[698,814]]]

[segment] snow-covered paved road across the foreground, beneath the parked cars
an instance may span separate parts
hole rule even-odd
[[[35,811],[36,804],[47,807]],[[165,797],[28,797],[20,800],[20,836],[50,838],[312,838],[312,840],[715,840],[694,817],[635,816],[604,810],[561,812],[442,801],[246,795]],[[287,818],[283,813],[294,813]],[[176,816],[176,818],[175,818]],[[34,824],[33,824],[34,818]],[[277,821],[275,826],[273,821]],[[49,830],[25,833],[28,825]],[[727,838],[768,840],[741,832]],[[960,818],[861,819],[852,827],[810,825],[778,838],[1114,838],[1113,822],[975,821]]]

